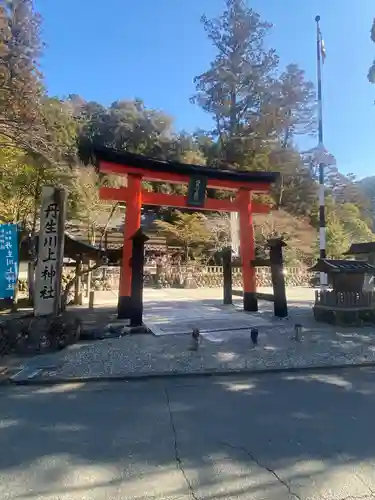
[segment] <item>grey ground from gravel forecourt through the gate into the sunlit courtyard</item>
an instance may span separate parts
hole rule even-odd
[[[374,328],[339,329],[315,323],[309,302],[312,290],[294,289],[289,294],[290,317],[283,320],[273,317],[269,303],[261,303],[258,313],[244,313],[240,299],[234,306],[222,306],[221,299],[213,298],[215,293],[146,291],[145,321],[159,336],[135,334],[74,345],[34,358],[13,380],[53,382],[375,363]],[[108,307],[95,312],[101,321],[113,318],[113,313]],[[301,342],[293,340],[296,322],[304,327]],[[259,329],[256,348],[250,340],[251,326]],[[191,335],[184,333],[195,327],[202,330],[198,351],[191,350]]]

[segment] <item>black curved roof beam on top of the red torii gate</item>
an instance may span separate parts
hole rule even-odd
[[[159,173],[181,174],[187,176],[202,176],[208,179],[216,179],[244,183],[265,183],[272,184],[279,178],[278,172],[250,172],[247,170],[229,170],[201,165],[190,165],[187,163],[171,162],[149,158],[147,156],[136,155],[127,151],[116,149],[95,147],[94,156],[99,162],[113,163],[132,167],[135,169],[153,171]],[[124,169],[125,171],[125,169]],[[126,172],[124,172],[126,173]],[[140,172],[141,173],[141,172]]]

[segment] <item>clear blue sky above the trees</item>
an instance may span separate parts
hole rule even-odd
[[[176,129],[210,128],[189,103],[193,77],[214,49],[200,16],[217,15],[223,0],[35,0],[47,44],[42,67],[51,95],[80,94],[110,104],[142,98],[164,110]],[[298,63],[315,81],[315,23],[321,16],[324,142],[343,172],[375,174],[375,85],[366,78],[375,58],[370,28],[374,0],[249,0],[274,24],[268,43],[281,65]],[[315,141],[304,142],[311,147]]]

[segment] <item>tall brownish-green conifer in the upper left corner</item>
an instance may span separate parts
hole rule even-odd
[[[45,153],[38,69],[40,17],[32,0],[0,5],[0,144]]]

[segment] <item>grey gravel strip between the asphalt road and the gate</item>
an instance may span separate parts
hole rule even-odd
[[[236,331],[232,338],[221,342],[202,338],[198,351],[190,350],[189,335],[139,334],[112,338],[71,346],[61,353],[49,355],[48,360],[45,357],[34,359],[16,380],[223,373],[375,363],[375,335],[369,330],[358,334],[305,329],[302,341],[296,342],[292,337],[293,329],[287,325],[272,330],[260,329],[259,345],[254,348],[248,331]]]

